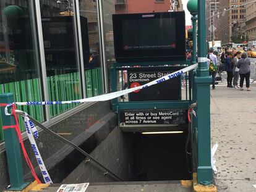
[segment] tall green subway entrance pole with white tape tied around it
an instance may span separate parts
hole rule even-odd
[[[197,1],[197,0],[190,0]],[[197,91],[198,167],[197,181],[213,183],[210,137],[210,76],[207,64],[205,0],[198,0],[198,67],[195,77]]]

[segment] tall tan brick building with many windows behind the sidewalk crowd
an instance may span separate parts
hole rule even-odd
[[[233,33],[233,31],[236,31],[237,26],[239,26],[239,30],[241,30],[241,34],[239,34],[239,36],[240,38],[241,36],[243,38],[245,34],[245,25],[242,25],[242,23],[245,22],[246,11],[245,6],[241,5],[245,4],[245,2],[246,0],[220,0],[220,12],[222,14],[220,14],[220,25],[217,36],[221,40],[222,44],[228,44],[235,40],[238,41],[238,35]],[[224,9],[231,10],[225,11]]]

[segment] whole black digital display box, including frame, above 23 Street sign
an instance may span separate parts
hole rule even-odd
[[[184,12],[113,15],[117,62],[186,60]]]

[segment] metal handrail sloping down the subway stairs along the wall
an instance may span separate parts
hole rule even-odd
[[[17,114],[22,115],[22,117],[25,117],[25,112],[20,111],[20,110],[15,110],[15,112]],[[100,162],[98,162],[95,158],[93,158],[92,156],[90,156],[90,154],[88,154],[87,152],[83,151],[83,149],[79,148],[79,146],[75,145],[74,143],[72,143],[69,140],[66,140],[66,138],[56,134],[54,131],[50,130],[49,128],[45,127],[44,125],[42,125],[40,122],[38,122],[37,120],[33,119],[33,117],[31,117],[30,115],[27,115],[27,117],[36,125],[38,125],[38,127],[42,128],[43,130],[45,130],[47,133],[49,133],[50,135],[55,136],[56,138],[58,138],[59,140],[62,140],[64,143],[69,144],[70,146],[72,146],[73,148],[77,149],[77,151],[81,152],[84,156],[89,157],[90,159],[92,159],[93,162],[95,162],[95,164],[99,165],[102,169],[106,170],[106,172],[104,173],[104,175],[106,175],[106,173],[110,173],[112,176],[114,176],[114,178],[116,178],[116,180],[123,182],[124,180],[122,180],[120,177],[118,177],[115,173],[111,172],[111,170],[109,170],[108,168],[106,168],[104,165],[102,165]]]

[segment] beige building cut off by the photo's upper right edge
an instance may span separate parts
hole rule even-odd
[[[247,2],[252,2],[252,0],[247,0]],[[246,7],[246,35],[249,41],[256,40],[256,2],[248,4]]]

